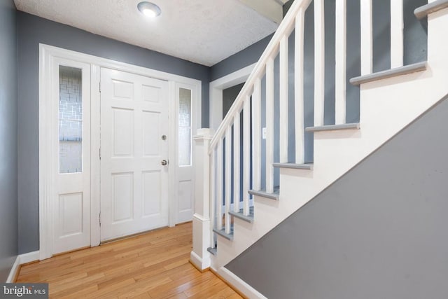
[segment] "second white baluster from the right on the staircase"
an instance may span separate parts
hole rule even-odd
[[[394,1],[394,0],[392,0]],[[372,74],[373,70],[373,21],[372,0],[360,0],[361,21],[361,76]]]

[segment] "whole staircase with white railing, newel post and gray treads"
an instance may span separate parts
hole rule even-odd
[[[335,124],[326,125],[324,1],[296,0],[216,133],[201,129],[195,137],[191,261],[200,269],[211,267],[251,298],[259,295],[224,266],[448,94],[448,1],[416,8],[416,18],[428,20],[428,57],[403,65],[403,2],[391,0],[391,69],[379,72],[372,67],[372,0],[359,1],[360,76],[350,80],[360,87],[359,122],[346,123],[346,1],[335,0]],[[309,6],[314,7],[314,125],[305,127]],[[293,104],[288,95],[292,33]],[[279,85],[274,86],[277,57]],[[312,163],[305,162],[305,132],[314,133]]]

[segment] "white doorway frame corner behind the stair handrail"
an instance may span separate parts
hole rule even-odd
[[[209,112],[211,129],[215,131],[218,130],[219,125],[221,125],[221,122],[223,121],[223,90],[246,82],[253,69],[255,69],[255,65],[256,63],[251,64],[210,82]]]

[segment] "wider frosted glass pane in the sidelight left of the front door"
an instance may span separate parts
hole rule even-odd
[[[82,70],[59,66],[59,173],[83,171]]]

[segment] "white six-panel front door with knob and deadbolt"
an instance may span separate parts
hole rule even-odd
[[[101,69],[101,240],[169,224],[168,83]]]

